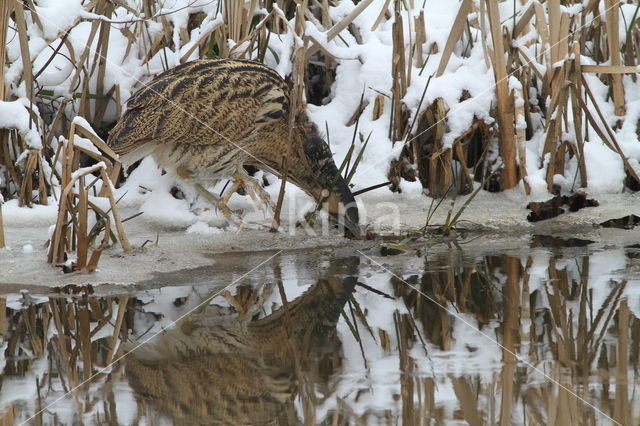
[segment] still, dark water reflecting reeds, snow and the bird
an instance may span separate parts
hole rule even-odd
[[[0,424],[640,424],[639,248],[410,248],[4,294]]]

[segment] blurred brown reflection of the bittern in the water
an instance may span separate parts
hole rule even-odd
[[[126,358],[138,403],[176,424],[299,424],[294,396],[314,388],[323,359],[325,367],[336,361],[335,327],[357,263],[332,262],[330,278],[265,318],[220,316],[209,306],[163,332]]]

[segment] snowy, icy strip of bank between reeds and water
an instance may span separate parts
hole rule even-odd
[[[295,190],[291,192],[296,193]],[[638,195],[603,193],[590,196],[600,202],[599,207],[584,208],[531,224],[526,220],[526,201],[519,190],[502,194],[481,191],[461,217],[460,226],[471,231],[463,235],[461,242],[473,240],[463,249],[482,249],[483,246],[526,248],[530,236],[539,233],[588,238],[612,244],[638,241],[637,230],[609,230],[595,226],[629,214],[640,216]],[[365,194],[359,201],[364,222],[370,229],[397,234],[424,225],[430,200],[419,194],[397,195],[382,189]],[[464,200],[465,197],[459,197],[453,210],[457,211]],[[283,211],[291,212],[291,217],[299,216],[293,204],[305,204],[305,199],[299,193],[295,201],[285,202],[284,205]],[[241,197],[232,204],[235,208],[250,207]],[[290,207],[292,210],[289,210]],[[431,224],[444,223],[449,208],[450,201],[446,200],[436,211]],[[282,231],[271,233],[265,229],[270,223],[269,218],[261,212],[247,213],[248,221],[255,222],[249,225],[253,229],[222,230],[212,226],[219,225],[220,218],[207,211],[188,212],[192,217],[180,219],[168,215],[166,211],[164,216],[160,211],[156,211],[154,216],[154,212],[146,211],[144,205],[138,203],[136,207],[136,203],[132,203],[124,209],[123,217],[138,210],[144,214],[125,223],[129,240],[135,247],[133,253],[124,254],[118,245],[114,245],[103,253],[98,271],[92,274],[63,274],[59,268],[51,267],[46,262],[45,245],[49,228],[55,221],[55,206],[24,209],[15,207],[12,202],[6,204],[4,220],[7,248],[0,249],[0,285],[5,287],[5,291],[71,283],[126,285],[154,277],[158,279],[163,273],[195,270],[210,265],[219,265],[219,272],[232,278],[247,272],[267,259],[269,253],[278,250],[340,249],[343,253],[349,253],[378,244],[376,241],[347,240],[339,236],[336,230],[329,228],[323,231],[321,226],[306,230],[292,228],[287,214],[284,215]],[[447,247],[441,244],[430,250],[447,250]],[[160,278],[158,285],[162,282]]]

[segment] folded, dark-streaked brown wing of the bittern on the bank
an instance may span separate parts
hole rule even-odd
[[[282,119],[288,110],[285,91],[282,79],[260,64],[194,61],[161,74],[131,97],[109,142],[119,154],[149,142],[237,144]]]

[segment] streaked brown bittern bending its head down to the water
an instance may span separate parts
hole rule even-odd
[[[124,168],[153,155],[156,162],[229,217],[231,196],[215,197],[201,182],[233,178],[249,195],[267,201],[244,170],[251,165],[282,175],[326,206],[353,237],[360,236],[353,194],[340,176],[327,143],[306,112],[290,132],[288,86],[261,63],[202,59],[158,75],[136,92],[109,135]],[[291,138],[290,138],[291,134]],[[290,145],[289,145],[290,144]]]

